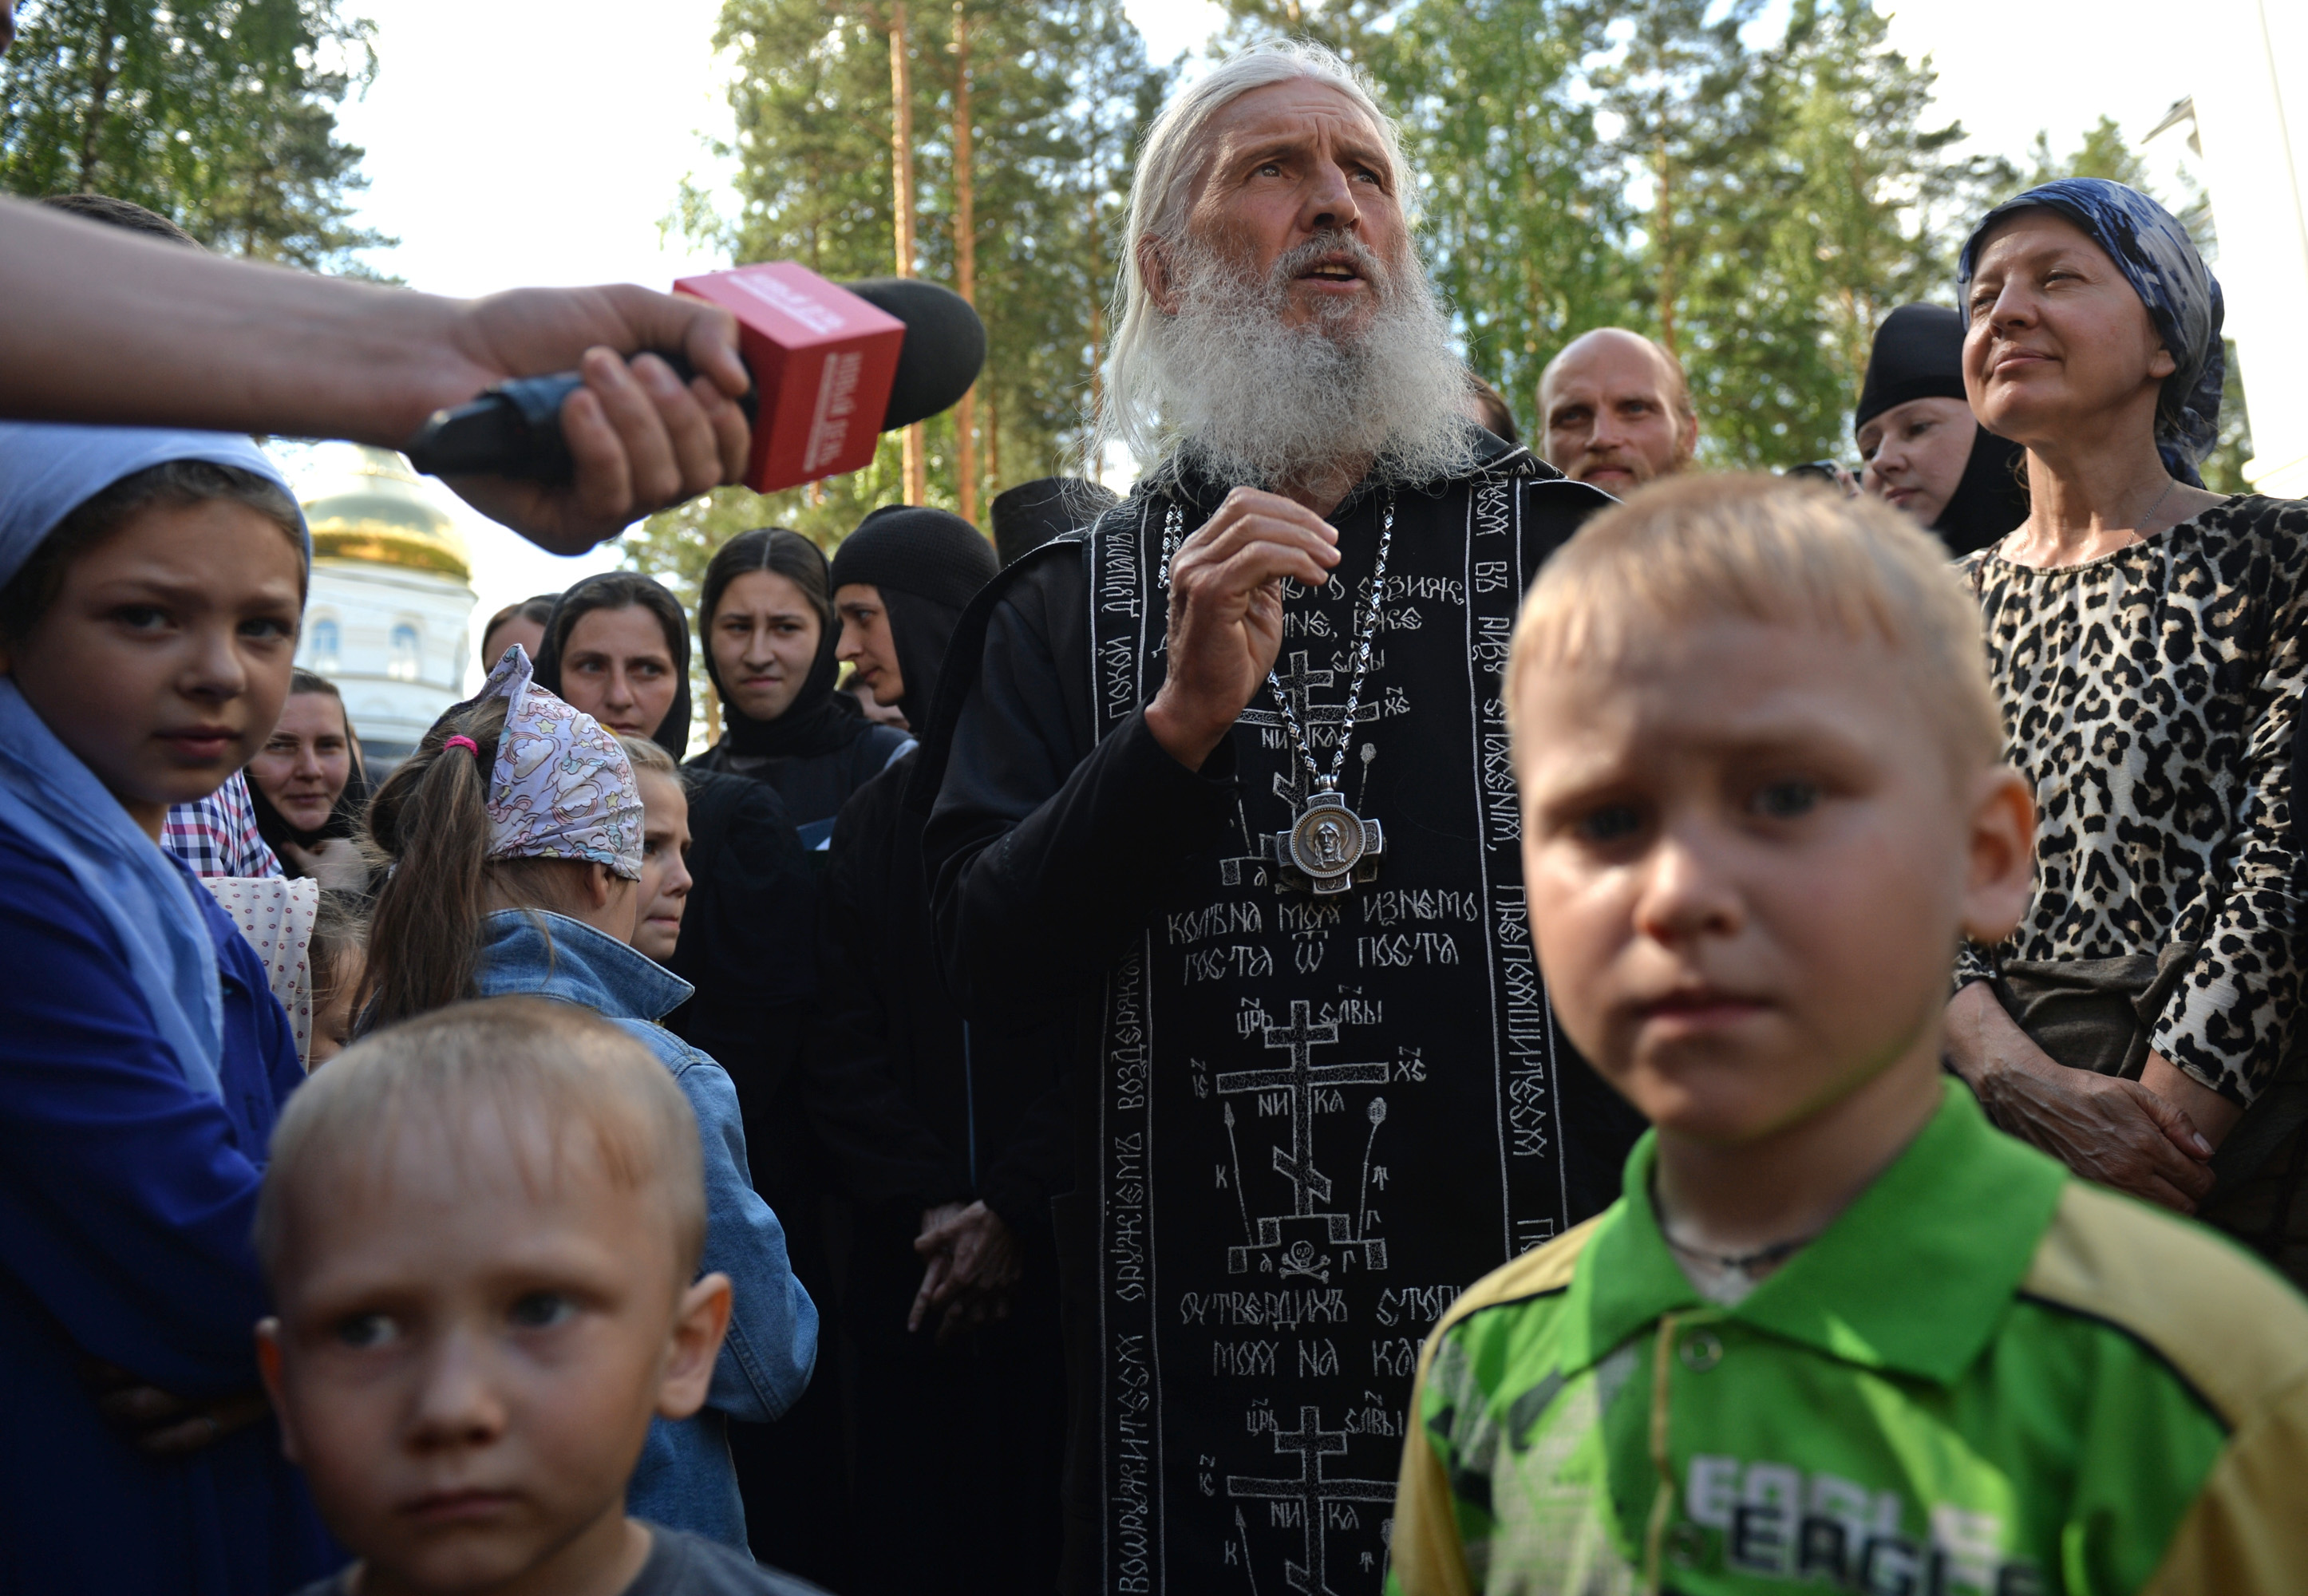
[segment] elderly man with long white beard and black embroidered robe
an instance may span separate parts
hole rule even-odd
[[[1078,1006],[1066,1589],[1376,1591],[1419,1338],[1636,1130],[1549,1022],[1498,685],[1609,500],[1463,420],[1410,221],[1318,48],[1163,111],[1099,438],[1149,470],[981,595],[923,752],[953,989]]]

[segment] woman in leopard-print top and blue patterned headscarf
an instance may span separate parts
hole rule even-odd
[[[1971,411],[2026,447],[2026,521],[1962,570],[2038,835],[2026,923],[1962,953],[1955,1068],[2077,1174],[2308,1278],[2290,1213],[2308,507],[2204,491],[2220,284],[2149,196],[2029,189],[1980,219],[1957,295]]]

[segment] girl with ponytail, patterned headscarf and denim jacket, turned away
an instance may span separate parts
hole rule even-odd
[[[619,1022],[690,1098],[704,1137],[704,1268],[729,1275],[736,1310],[704,1411],[653,1423],[630,1504],[743,1548],[727,1425],[778,1418],[801,1395],[817,1310],[748,1179],[729,1077],[658,1024],[690,987],[632,950],[644,819],[623,747],[535,687],[529,655],[508,650],[480,697],[443,715],[385,777],[369,835],[392,874],[369,923],[362,1029],[471,996],[552,996]]]

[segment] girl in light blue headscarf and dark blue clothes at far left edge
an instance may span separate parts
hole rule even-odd
[[[247,438],[0,424],[0,1589],[344,1561],[256,1395],[295,1040],[159,846],[270,736],[307,565]]]

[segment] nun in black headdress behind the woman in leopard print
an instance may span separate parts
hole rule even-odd
[[[1860,487],[1964,556],[2026,519],[2026,450],[1978,424],[1964,399],[1964,318],[1902,304],[1876,328],[1851,415]]]

